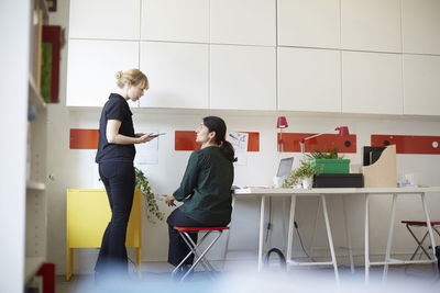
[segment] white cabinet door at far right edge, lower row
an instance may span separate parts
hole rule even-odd
[[[440,56],[404,55],[404,114],[440,115]]]

